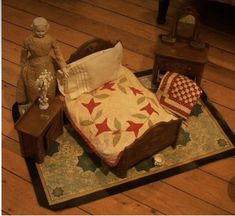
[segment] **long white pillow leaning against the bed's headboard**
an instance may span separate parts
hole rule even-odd
[[[60,92],[70,99],[75,99],[117,79],[122,65],[122,53],[122,44],[118,42],[113,48],[93,53],[69,64],[69,78],[58,79]]]

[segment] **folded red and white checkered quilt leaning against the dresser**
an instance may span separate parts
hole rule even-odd
[[[193,80],[167,72],[161,80],[157,98],[164,108],[187,119],[201,94],[202,90]]]

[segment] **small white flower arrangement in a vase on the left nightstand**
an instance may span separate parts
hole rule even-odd
[[[39,108],[46,110],[49,107],[48,98],[47,98],[47,91],[51,85],[53,80],[53,76],[51,73],[46,69],[41,73],[41,75],[36,80],[36,87],[40,93],[39,101]]]

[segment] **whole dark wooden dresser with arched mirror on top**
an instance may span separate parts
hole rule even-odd
[[[195,9],[185,7],[176,16],[169,34],[159,35],[153,66],[153,90],[157,89],[166,71],[186,75],[200,84],[209,46],[199,39],[199,27],[199,14]]]

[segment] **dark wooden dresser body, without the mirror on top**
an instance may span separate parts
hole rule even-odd
[[[208,45],[205,49],[195,49],[188,43],[177,41],[167,44],[159,38],[157,41],[153,66],[152,89],[156,90],[161,79],[161,71],[172,71],[195,79],[200,79],[207,62]]]

